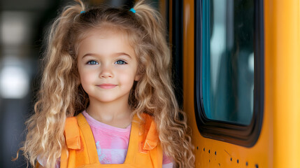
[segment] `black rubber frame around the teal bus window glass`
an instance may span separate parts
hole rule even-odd
[[[194,38],[194,109],[195,119],[200,134],[209,139],[225,141],[239,146],[252,147],[256,144],[262,129],[264,114],[264,1],[255,0],[255,73],[253,116],[250,125],[241,125],[206,117],[203,107],[202,59],[203,36],[202,21],[203,1],[194,1],[195,38]]]

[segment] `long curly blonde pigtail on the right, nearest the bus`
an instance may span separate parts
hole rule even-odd
[[[179,109],[173,92],[171,54],[162,17],[144,0],[138,1],[134,10],[146,32],[143,50],[147,50],[148,55],[141,60],[145,71],[136,87],[136,99],[148,101],[139,101],[136,113],[144,112],[139,109],[147,109],[153,116],[164,152],[173,158],[177,167],[194,167],[190,128],[187,127],[187,118]]]

